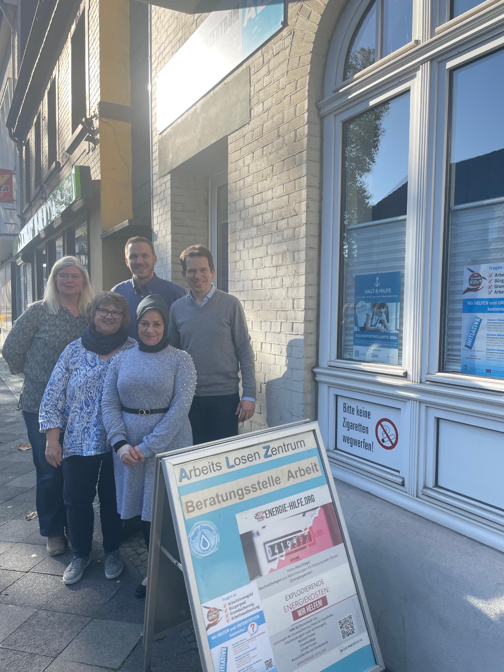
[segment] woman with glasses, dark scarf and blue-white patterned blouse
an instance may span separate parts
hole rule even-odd
[[[106,552],[105,575],[116,579],[123,569],[114,463],[101,420],[101,392],[112,359],[134,347],[136,341],[128,338],[130,311],[120,294],[97,294],[89,308],[89,322],[91,326],[81,338],[62,352],[40,405],[40,431],[47,437],[46,458],[54,468],[62,465],[65,480],[63,499],[73,551],[73,560],[63,574],[63,583],[67,584],[79,581],[90,562],[96,489]]]

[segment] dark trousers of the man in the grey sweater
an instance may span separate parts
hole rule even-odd
[[[238,434],[240,395],[195,396],[189,411],[193,446]]]

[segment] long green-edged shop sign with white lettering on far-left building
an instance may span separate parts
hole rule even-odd
[[[91,180],[89,186],[84,185],[81,173],[89,173],[87,166],[74,166],[71,173],[52,190],[46,202],[38,208],[34,216],[28,221],[19,233],[19,236],[13,241],[13,254],[20,252],[30,241],[32,241],[40,231],[49,226],[63,210],[68,208],[77,198],[81,196],[91,197]]]

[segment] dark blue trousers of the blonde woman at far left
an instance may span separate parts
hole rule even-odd
[[[60,466],[54,467],[46,460],[46,435],[40,432],[38,413],[23,411],[32,444],[32,458],[37,474],[36,506],[40,534],[43,537],[57,537],[65,534],[67,509],[63,503],[63,474]],[[60,435],[63,443],[63,435]]]

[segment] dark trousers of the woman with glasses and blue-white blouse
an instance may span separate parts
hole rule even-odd
[[[73,554],[87,558],[93,544],[95,512],[93,500],[98,484],[99,515],[103,550],[117,550],[121,536],[121,518],[117,512],[116,481],[112,452],[101,455],[71,455],[63,460],[65,487],[63,499],[69,518]]]

